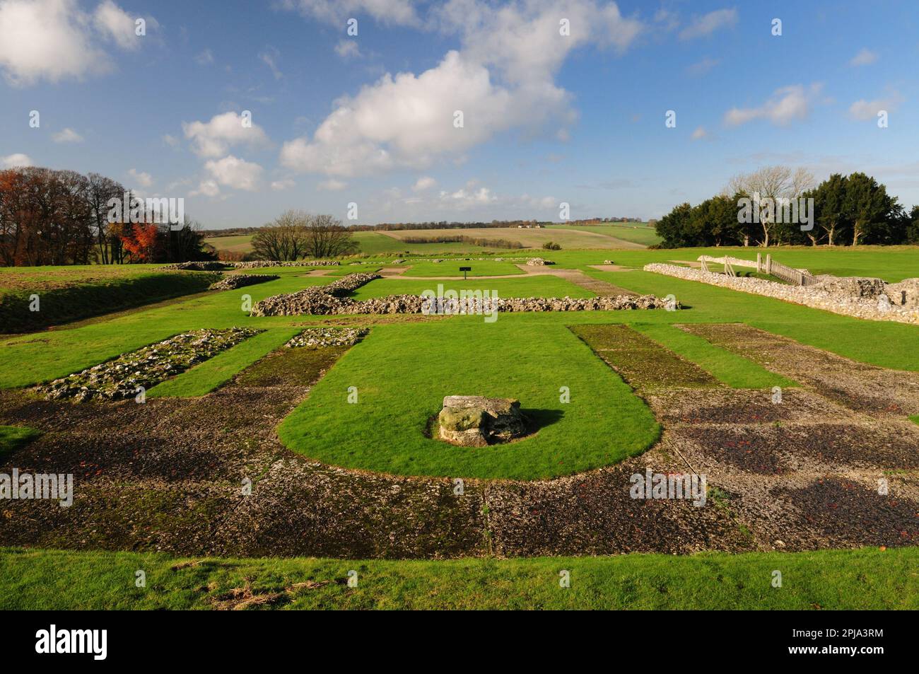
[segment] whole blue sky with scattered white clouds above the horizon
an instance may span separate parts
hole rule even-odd
[[[0,0],[0,166],[102,173],[210,229],[659,217],[771,164],[911,206],[916,63],[913,2]]]

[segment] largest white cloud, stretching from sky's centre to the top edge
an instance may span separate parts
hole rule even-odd
[[[384,74],[340,98],[312,138],[284,143],[281,164],[355,177],[424,168],[511,129],[567,138],[577,115],[554,76],[568,54],[587,43],[622,51],[643,26],[615,3],[594,0],[573,0],[565,17],[569,35],[560,34],[559,11],[549,0],[499,6],[451,0],[432,9],[431,25],[458,34],[461,49],[421,74]],[[461,128],[454,124],[457,110]]]

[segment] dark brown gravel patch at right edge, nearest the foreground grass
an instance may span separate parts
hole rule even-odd
[[[919,503],[880,496],[877,489],[839,478],[817,480],[803,489],[777,487],[772,496],[789,508],[789,527],[806,527],[830,545],[919,544]]]

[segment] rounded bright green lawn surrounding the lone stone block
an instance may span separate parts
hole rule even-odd
[[[571,402],[560,402],[560,388]],[[347,402],[357,388],[357,404]],[[425,437],[445,395],[520,400],[523,440],[460,448]],[[389,474],[536,479],[616,463],[660,427],[641,398],[561,324],[478,316],[375,326],[278,427],[292,450]],[[602,439],[602,440],[601,440]]]

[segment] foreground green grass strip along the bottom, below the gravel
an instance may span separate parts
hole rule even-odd
[[[209,609],[247,582],[278,593],[265,609],[916,610],[917,564],[919,548],[435,561],[0,548],[0,610]]]

